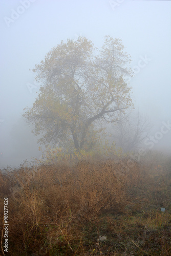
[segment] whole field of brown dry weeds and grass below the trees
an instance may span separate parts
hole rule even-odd
[[[1,255],[171,255],[168,157],[25,163],[0,181]]]

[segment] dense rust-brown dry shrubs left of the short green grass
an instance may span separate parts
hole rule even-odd
[[[72,251],[84,223],[106,210],[122,211],[127,202],[124,180],[107,162],[80,161],[73,167],[24,164],[0,178],[13,216],[10,244],[18,253],[34,251],[37,245],[52,249],[56,243]]]

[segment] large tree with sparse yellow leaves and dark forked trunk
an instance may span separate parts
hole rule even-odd
[[[91,41],[79,37],[52,48],[33,71],[41,82],[38,98],[24,117],[42,134],[38,142],[83,149],[99,124],[114,122],[132,106],[130,56],[120,39],[105,36],[98,51]]]

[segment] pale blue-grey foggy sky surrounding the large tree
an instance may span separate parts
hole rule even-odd
[[[170,1],[1,0],[0,5],[0,168],[41,156],[22,118],[40,86],[31,70],[61,40],[80,35],[98,48],[105,35],[122,40],[135,72],[130,79],[135,110],[153,124],[144,147],[171,154]]]

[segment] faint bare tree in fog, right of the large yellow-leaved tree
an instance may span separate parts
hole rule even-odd
[[[147,138],[151,124],[146,116],[139,112],[131,112],[124,115],[112,127],[112,138],[122,148],[123,152],[136,151]]]

